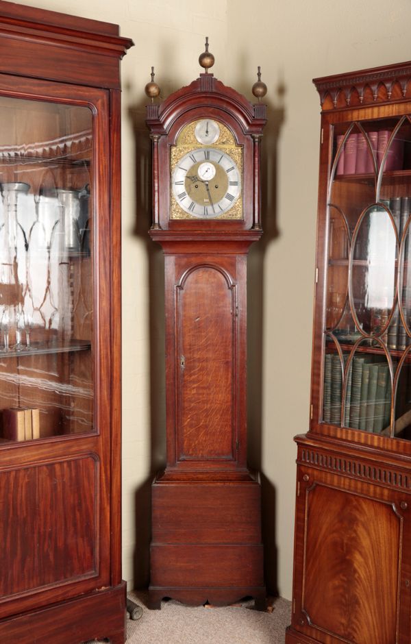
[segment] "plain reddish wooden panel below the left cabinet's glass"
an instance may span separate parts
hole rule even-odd
[[[97,574],[94,456],[0,471],[0,601]]]

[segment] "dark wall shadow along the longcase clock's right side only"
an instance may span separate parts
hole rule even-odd
[[[275,320],[266,320],[266,327],[263,328],[263,294],[266,249],[281,235],[277,227],[277,145],[285,117],[284,94],[284,85],[278,84],[277,88],[269,86],[269,92],[264,97],[267,105],[267,124],[261,146],[261,214],[264,233],[260,242],[251,246],[247,264],[247,454],[249,467],[259,471],[261,478],[264,576],[268,595],[278,595],[276,491],[262,468],[262,369],[264,335],[275,334]],[[275,395],[275,392],[271,394]],[[274,434],[278,430],[275,419],[265,429],[266,433]]]

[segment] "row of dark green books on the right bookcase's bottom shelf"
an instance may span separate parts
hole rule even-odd
[[[390,424],[391,379],[381,356],[354,356],[347,373],[344,425],[382,432]],[[323,421],[341,424],[343,375],[338,354],[325,354]]]

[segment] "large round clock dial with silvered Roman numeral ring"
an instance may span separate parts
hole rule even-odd
[[[234,206],[241,192],[236,163],[216,148],[188,152],[175,167],[171,182],[179,206],[199,219],[224,214]]]

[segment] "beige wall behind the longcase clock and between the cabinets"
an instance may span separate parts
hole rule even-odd
[[[197,77],[204,36],[214,73],[251,99],[269,87],[262,243],[251,252],[249,427],[263,472],[268,580],[291,596],[292,436],[308,428],[319,98],[311,79],[410,58],[409,0],[27,0],[121,25],[136,46],[123,71],[123,575],[147,582],[149,481],[162,462],[162,259],[147,238],[144,86],[163,96]],[[154,297],[160,293],[160,297]],[[260,373],[260,377],[259,374]],[[153,438],[151,438],[153,427]],[[153,465],[152,465],[153,464]],[[277,575],[275,566],[277,562]]]

